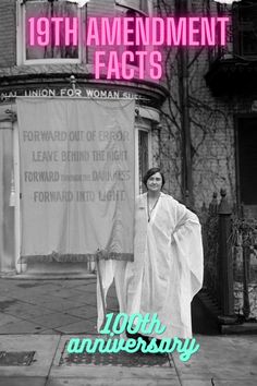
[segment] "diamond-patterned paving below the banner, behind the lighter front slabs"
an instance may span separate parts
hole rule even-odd
[[[97,334],[96,316],[96,278],[0,279],[0,334]]]

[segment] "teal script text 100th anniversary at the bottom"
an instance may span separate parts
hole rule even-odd
[[[106,324],[100,330],[100,334],[109,335],[111,338],[96,338],[94,340],[90,338],[71,338],[66,347],[68,353],[72,354],[87,352],[88,354],[91,354],[97,351],[100,353],[118,353],[120,351],[134,353],[139,350],[143,353],[171,353],[176,351],[180,353],[180,360],[182,362],[187,362],[200,347],[196,342],[195,338],[162,338],[158,343],[156,338],[152,338],[149,342],[146,342],[140,337],[137,339],[113,338],[115,334],[122,334],[125,330],[130,334],[163,334],[166,326],[161,324],[157,314],[145,314],[143,316],[137,313],[128,316],[125,313],[120,313],[114,317],[113,324],[112,319],[113,313],[107,314]]]

